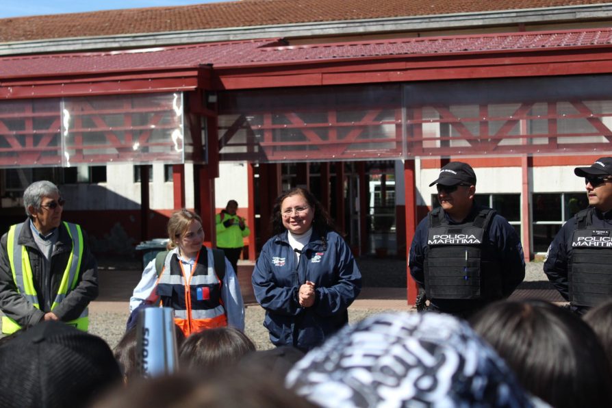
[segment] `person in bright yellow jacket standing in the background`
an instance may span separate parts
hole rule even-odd
[[[238,259],[244,246],[242,238],[248,237],[251,233],[246,227],[244,218],[236,214],[237,210],[238,202],[230,200],[225,209],[216,216],[217,248],[225,253],[236,275],[238,275]]]

